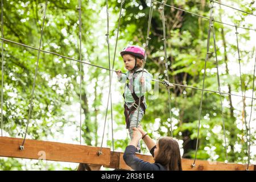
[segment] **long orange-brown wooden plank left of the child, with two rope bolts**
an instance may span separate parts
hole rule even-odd
[[[110,148],[102,148],[102,155],[98,156],[97,152],[100,147],[26,139],[25,150],[19,150],[22,141],[21,138],[0,137],[0,156],[72,163],[110,164]]]

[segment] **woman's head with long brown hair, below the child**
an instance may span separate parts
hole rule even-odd
[[[163,137],[158,140],[158,154],[155,163],[162,164],[168,171],[182,171],[180,147],[171,137]]]

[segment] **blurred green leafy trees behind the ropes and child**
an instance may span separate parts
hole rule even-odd
[[[125,1],[122,10],[117,55],[114,69],[123,68],[119,51],[127,44],[144,46],[151,1]],[[209,16],[209,1],[166,1],[203,16]],[[225,1],[225,4],[253,13],[253,0]],[[15,42],[39,47],[40,28],[43,22],[45,1],[3,1],[3,36]],[[109,0],[110,13],[110,59],[113,61],[121,1]],[[159,3],[154,2],[151,23],[151,40],[147,50],[145,68],[159,79],[166,78],[163,50],[163,25]],[[253,27],[255,17],[214,4],[214,18],[239,26]],[[79,11],[78,1],[48,1],[46,23],[43,31],[42,49],[79,60]],[[82,60],[108,68],[106,44],[106,2],[82,1]],[[202,88],[204,60],[207,52],[209,22],[195,15],[164,7],[167,36],[168,74],[170,82]],[[241,93],[239,64],[234,27],[214,23],[216,30],[217,57],[219,60],[221,90],[226,93]],[[242,85],[245,95],[251,97],[253,87],[255,31],[238,28],[241,51]],[[213,50],[213,39],[210,40]],[[3,136],[24,137],[32,84],[38,51],[3,42]],[[2,56],[2,55],[1,55]],[[2,64],[2,62],[1,62]],[[33,100],[33,111],[28,136],[30,139],[50,140],[66,143],[80,141],[80,63],[61,57],[40,53],[39,71]],[[214,53],[207,63],[205,89],[217,90],[217,71]],[[2,73],[1,73],[2,74]],[[158,77],[155,77],[158,78]],[[109,90],[109,72],[82,65],[82,143],[100,146]],[[153,86],[155,83],[152,82]],[[125,129],[122,100],[123,85],[113,76],[113,127],[114,148],[125,150],[129,135]],[[147,99],[148,109],[142,126],[150,136],[158,139],[171,136],[179,140],[183,158],[194,158],[199,117],[201,91],[174,86],[171,88],[172,119],[169,117],[168,92],[159,85],[156,99]],[[255,97],[255,93],[254,93]],[[148,97],[147,97],[148,98]],[[251,100],[246,98],[243,113],[242,97],[222,96],[228,162],[247,162],[246,130],[249,125]],[[109,107],[110,108],[110,107]],[[255,102],[251,118],[251,160],[256,162]],[[112,146],[110,109],[106,127],[105,147]],[[142,152],[147,154],[143,144]],[[225,144],[221,118],[220,95],[204,92],[203,110],[199,135],[197,159],[224,162]],[[45,162],[27,159],[0,158],[2,170],[74,170],[77,164]]]

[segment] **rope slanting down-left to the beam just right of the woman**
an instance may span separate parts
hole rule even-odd
[[[196,155],[199,145],[199,131],[200,131],[200,119],[201,119],[201,111],[202,111],[202,105],[203,105],[203,95],[204,95],[204,82],[205,82],[205,72],[207,67],[207,61],[209,60],[209,47],[210,47],[210,27],[213,22],[213,5],[210,8],[210,19],[209,19],[209,28],[208,28],[208,38],[207,38],[207,56],[205,57],[205,63],[204,63],[204,77],[203,77],[203,89],[201,92],[201,101],[200,101],[200,109],[199,109],[199,119],[198,119],[198,129],[197,129],[197,139],[196,139],[196,154],[195,154],[195,160],[192,164],[192,167],[196,167]]]

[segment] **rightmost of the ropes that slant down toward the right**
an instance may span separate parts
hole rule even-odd
[[[239,63],[239,73],[240,73],[240,82],[241,82],[241,92],[242,92],[242,101],[243,101],[243,118],[245,119],[245,132],[246,132],[246,145],[247,144],[247,122],[246,122],[246,111],[245,111],[245,93],[243,92],[243,82],[242,82],[242,72],[241,72],[241,57],[240,57],[240,48],[238,43],[238,31],[237,31],[237,24],[236,24],[236,39],[237,39],[237,53],[238,53],[238,63]],[[248,150],[248,149],[247,149]],[[248,152],[248,151],[247,151]]]

